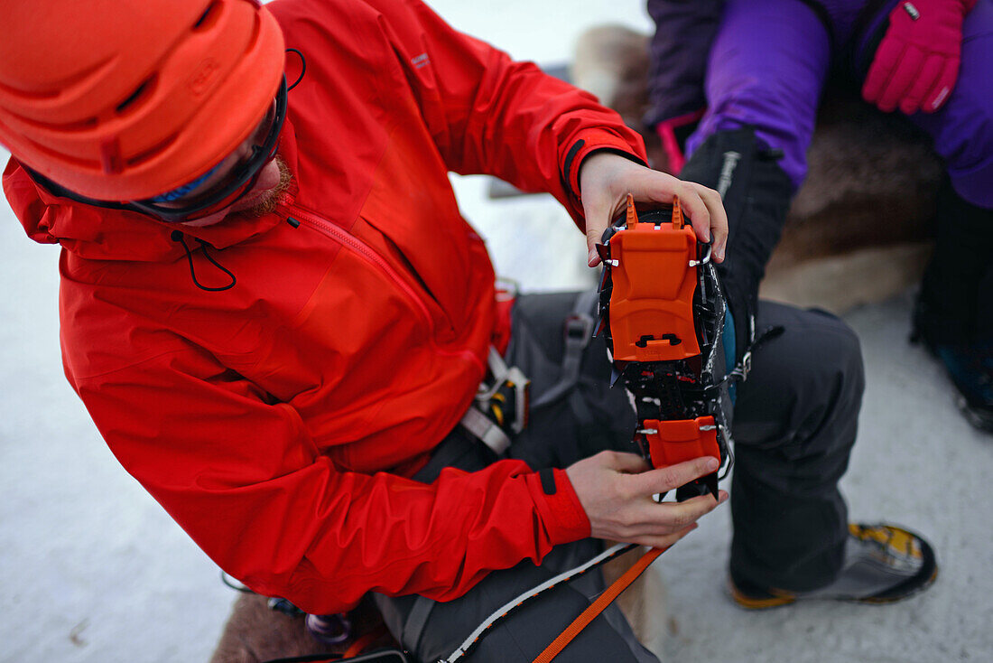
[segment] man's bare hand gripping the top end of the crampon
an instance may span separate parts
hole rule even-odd
[[[662,205],[671,205],[672,197],[678,196],[679,204],[693,223],[696,237],[701,242],[709,242],[713,235],[714,260],[724,260],[728,215],[724,212],[720,194],[713,189],[639,166],[612,152],[594,152],[583,159],[579,182],[586,216],[588,264],[591,267],[600,263],[596,246],[607,226],[625,209],[629,193],[637,203]]]

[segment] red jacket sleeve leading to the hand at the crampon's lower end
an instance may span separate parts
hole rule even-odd
[[[512,460],[432,484],[339,471],[290,405],[198,349],[86,378],[72,368],[114,455],[213,561],[308,612],[348,609],[368,590],[456,598],[589,536],[561,470],[553,490]]]

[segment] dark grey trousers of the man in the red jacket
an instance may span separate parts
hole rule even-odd
[[[592,303],[593,297],[585,297]],[[578,363],[566,360],[563,366],[564,356],[572,354],[566,348],[579,338],[566,333],[564,322],[576,301],[577,293],[524,295],[513,309],[507,363],[531,379],[532,403],[539,406],[513,439],[509,455],[533,469],[566,467],[605,449],[636,450],[635,414],[622,387],[609,386],[603,337],[589,341]],[[761,586],[802,590],[827,584],[841,567],[847,512],[837,483],[855,440],[862,356],[855,334],[828,313],[761,302],[758,329],[777,325],[785,331],[756,350],[752,373],[737,388],[731,571]],[[563,390],[565,385],[571,386]],[[543,399],[547,394],[557,398]],[[496,459],[457,427],[415,478],[432,481],[443,467],[475,470]],[[558,546],[539,567],[525,560],[494,572],[452,601],[374,597],[390,631],[414,660],[434,663],[497,607],[601,550],[592,539]],[[603,589],[602,576],[591,573],[548,591],[490,629],[463,660],[532,660]],[[657,660],[635,639],[616,604],[556,658],[562,663],[600,660]]]

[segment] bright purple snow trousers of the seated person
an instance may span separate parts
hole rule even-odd
[[[851,55],[846,51],[860,55],[866,35],[896,3],[885,3],[865,35],[854,38],[864,0],[823,3],[833,24],[832,43],[820,18],[801,0],[729,0],[710,51],[709,108],[687,142],[687,155],[716,131],[755,125],[760,140],[782,150],[780,166],[798,188],[832,59]],[[979,0],[965,17],[961,69],[947,103],[910,119],[933,138],[958,194],[993,208],[993,0]]]

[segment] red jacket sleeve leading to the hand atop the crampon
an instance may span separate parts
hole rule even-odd
[[[638,133],[589,92],[454,30],[420,0],[368,3],[451,170],[549,192],[583,228],[583,159],[610,150],[646,162]]]

